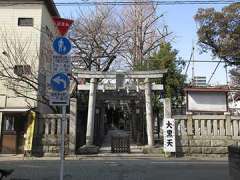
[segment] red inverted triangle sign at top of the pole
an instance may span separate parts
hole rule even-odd
[[[71,19],[63,19],[59,17],[53,17],[53,21],[62,36],[64,36],[68,32],[68,29],[73,23],[73,20]]]

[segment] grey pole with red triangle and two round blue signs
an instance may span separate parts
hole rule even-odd
[[[53,21],[58,28],[61,37],[57,37],[53,41],[53,62],[52,76],[50,80],[51,95],[50,104],[62,107],[63,118],[61,121],[61,152],[60,152],[60,180],[63,180],[64,174],[64,133],[66,127],[66,106],[69,105],[69,85],[70,80],[68,75],[71,74],[71,58],[68,53],[71,51],[71,42],[64,37],[68,29],[73,23],[73,20],[54,17]]]

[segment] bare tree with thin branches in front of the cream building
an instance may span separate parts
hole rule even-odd
[[[49,105],[46,92],[46,76],[50,73],[49,53],[51,50],[42,45],[36,46],[32,38],[23,39],[16,32],[1,30],[0,81],[8,94],[22,97],[33,108],[33,102]],[[50,43],[50,42],[49,42]],[[49,47],[49,46],[48,46]]]

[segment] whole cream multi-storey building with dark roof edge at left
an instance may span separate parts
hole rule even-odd
[[[54,16],[59,17],[59,13],[53,0],[0,1],[0,62],[6,62],[0,64],[0,73],[11,72],[12,81],[24,75],[33,84],[41,83],[41,88],[36,84],[34,90],[26,87],[24,81],[14,84],[0,75],[0,153],[21,153],[29,109],[38,107],[39,112],[46,109],[33,99],[45,94],[51,62],[46,52],[51,53],[51,39],[57,33]],[[21,86],[22,97],[11,90]]]

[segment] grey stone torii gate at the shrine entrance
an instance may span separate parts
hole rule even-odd
[[[137,82],[143,81],[143,84],[137,84],[135,87],[127,87],[130,90],[144,90],[145,91],[145,105],[146,105],[146,128],[147,128],[147,140],[148,146],[152,147],[153,141],[153,110],[151,102],[151,91],[163,90],[162,84],[151,83],[150,79],[160,79],[167,70],[155,70],[155,71],[133,71],[133,72],[93,72],[93,71],[80,71],[76,72],[75,78],[90,79],[90,84],[79,84],[77,87],[78,91],[89,90],[89,101],[88,101],[88,116],[87,116],[87,131],[86,131],[86,145],[82,146],[81,149],[85,152],[97,151],[97,147],[93,145],[94,137],[94,115],[95,115],[95,104],[96,104],[96,91],[102,90],[117,90],[118,87],[107,86],[105,84],[99,84],[98,79],[117,79],[120,75],[123,79],[137,80]]]

